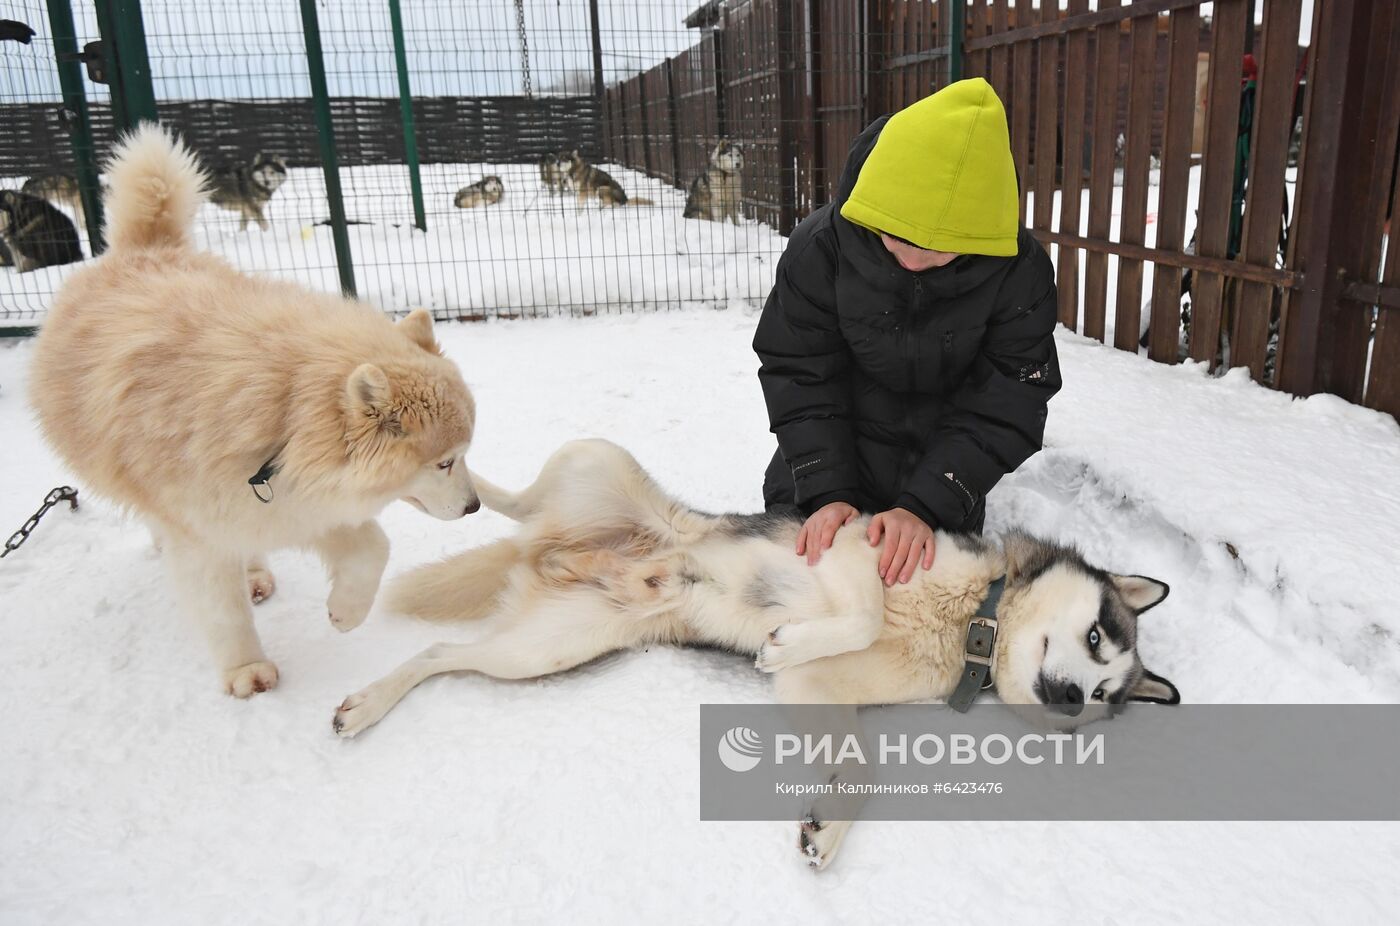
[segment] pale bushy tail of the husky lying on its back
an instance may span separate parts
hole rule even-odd
[[[424,621],[484,618],[496,609],[521,556],[519,545],[507,538],[419,566],[389,583],[388,607]]]

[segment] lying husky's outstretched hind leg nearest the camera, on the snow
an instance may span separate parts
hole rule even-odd
[[[475,643],[437,643],[368,688],[350,695],[332,727],[353,737],[379,721],[414,685],[442,672],[536,678],[582,665],[654,636],[617,614],[596,593],[559,595],[524,614],[497,615],[503,626]]]

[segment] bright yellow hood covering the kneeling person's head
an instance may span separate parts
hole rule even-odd
[[[847,221],[920,248],[1015,256],[1016,171],[991,84],[949,84],[861,133],[839,200]]]

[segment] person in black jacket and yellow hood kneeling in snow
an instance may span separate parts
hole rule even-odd
[[[809,563],[874,513],[881,577],[909,581],[932,531],[980,532],[987,492],[1040,450],[1054,268],[1016,202],[1001,101],[962,80],[867,127],[792,231],[753,350],[778,440],[763,500],[808,516]]]

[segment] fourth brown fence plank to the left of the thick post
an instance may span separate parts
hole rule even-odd
[[[1123,150],[1123,205],[1119,240],[1124,244],[1147,241],[1148,172],[1152,157],[1152,81],[1156,76],[1156,17],[1133,20],[1133,45],[1128,53],[1127,144]],[[1113,346],[1138,349],[1142,328],[1142,262],[1119,259],[1117,311]]]

